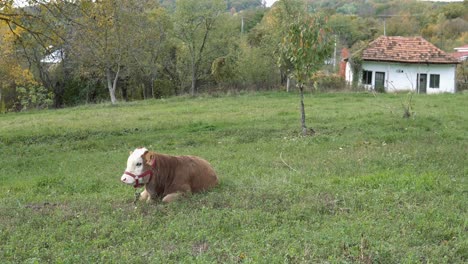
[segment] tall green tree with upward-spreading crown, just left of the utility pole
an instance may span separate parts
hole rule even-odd
[[[175,35],[188,50],[190,94],[197,92],[197,80],[206,56],[206,46],[218,17],[226,9],[223,0],[178,0],[175,12]],[[208,67],[211,64],[208,64]]]

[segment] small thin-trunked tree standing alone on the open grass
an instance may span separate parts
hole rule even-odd
[[[307,135],[304,109],[304,84],[331,56],[333,36],[321,15],[304,15],[294,21],[281,43],[284,57],[293,66],[292,75],[300,91],[302,134]],[[312,130],[313,131],[313,130]]]

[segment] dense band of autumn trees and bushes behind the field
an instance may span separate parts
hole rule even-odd
[[[260,0],[13,2],[0,3],[2,112],[19,110],[16,88],[32,82],[54,94],[56,108],[278,89],[290,74],[277,66],[278,43],[302,11],[328,18],[335,65],[341,48],[356,50],[384,32],[423,36],[447,52],[468,43],[467,1],[279,0],[271,8]],[[465,89],[466,78],[457,76]]]

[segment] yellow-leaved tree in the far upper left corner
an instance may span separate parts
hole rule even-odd
[[[28,67],[36,80],[48,91],[55,94],[55,107],[60,107],[64,81],[54,80],[51,65],[42,60],[52,52],[63,50],[67,39],[65,29],[70,22],[68,15],[72,13],[68,9],[73,5],[66,1],[22,1],[22,4],[25,3],[30,6],[14,7],[4,4],[0,8],[0,20],[8,25],[15,36],[18,61],[23,67]],[[60,66],[54,67],[54,71],[59,71],[59,68],[63,71],[63,63]]]

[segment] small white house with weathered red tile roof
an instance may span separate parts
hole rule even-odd
[[[454,93],[458,60],[422,37],[381,36],[362,50],[358,82],[367,89],[417,93]],[[355,74],[348,60],[345,78]]]

